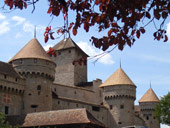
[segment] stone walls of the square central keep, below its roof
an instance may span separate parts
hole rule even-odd
[[[73,61],[82,57],[75,48],[57,51],[57,57],[51,57],[56,63],[54,83],[75,86],[81,82],[87,82],[87,65],[73,65]]]

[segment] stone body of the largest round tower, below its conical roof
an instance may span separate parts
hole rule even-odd
[[[51,110],[55,63],[42,59],[20,59],[14,60],[12,65],[26,80],[24,114]]]

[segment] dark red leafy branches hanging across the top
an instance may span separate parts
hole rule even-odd
[[[24,9],[28,5],[35,5],[39,0],[4,0],[4,6],[9,9]],[[146,31],[150,23],[155,25],[154,39],[164,42],[168,40],[166,31],[163,28],[167,17],[170,14],[169,0],[48,0],[48,14],[58,17],[63,14],[64,26],[57,31],[52,31],[47,26],[44,33],[45,42],[49,38],[55,39],[53,33],[68,33],[73,35],[83,26],[86,32],[92,26],[97,26],[98,32],[107,31],[103,37],[91,37],[92,44],[103,51],[109,47],[118,47],[123,50],[125,45],[132,46],[136,39],[139,39]],[[68,12],[74,11],[76,17],[74,22],[69,23]],[[160,24],[155,24],[159,20]],[[146,23],[146,24],[144,24]]]

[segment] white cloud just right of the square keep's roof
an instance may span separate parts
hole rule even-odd
[[[98,60],[99,63],[114,64],[112,56],[109,53],[105,54],[103,53],[102,50],[96,50],[93,47],[91,47],[87,42],[79,42],[78,46],[90,56],[91,60],[95,61],[96,59],[99,58]],[[94,56],[96,55],[98,56],[94,58]]]

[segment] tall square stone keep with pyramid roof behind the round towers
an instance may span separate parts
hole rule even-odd
[[[54,83],[76,86],[87,82],[87,62],[79,64],[77,60],[87,60],[88,55],[71,38],[63,39],[53,49],[57,54],[51,57],[57,65]]]

